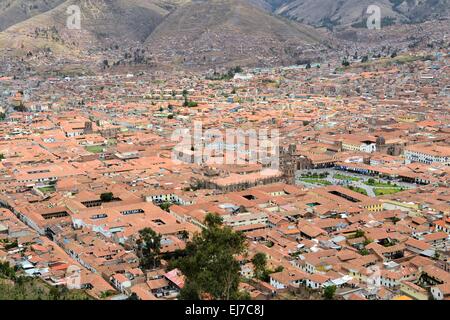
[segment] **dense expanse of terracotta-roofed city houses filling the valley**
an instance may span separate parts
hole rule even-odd
[[[183,274],[144,270],[133,241],[150,228],[162,253],[183,250],[215,213],[245,235],[240,288],[254,299],[329,286],[339,299],[449,299],[448,63],[1,77],[0,260],[55,286],[75,266],[99,299],[174,299]],[[250,161],[245,139],[205,138],[213,152],[198,156],[173,139],[194,121],[216,136],[277,130],[279,167]]]

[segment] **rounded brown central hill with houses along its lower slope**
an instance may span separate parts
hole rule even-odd
[[[159,63],[212,67],[295,61],[325,36],[250,0],[195,0],[171,13],[147,39]]]

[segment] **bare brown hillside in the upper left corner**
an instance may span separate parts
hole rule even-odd
[[[81,30],[66,26],[70,5],[81,9]],[[111,43],[143,42],[168,13],[153,0],[66,0],[1,32],[0,48],[76,56]]]

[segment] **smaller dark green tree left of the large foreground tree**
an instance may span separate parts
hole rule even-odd
[[[161,238],[160,234],[150,228],[139,231],[139,239],[136,241],[137,255],[143,268],[151,269],[159,265]]]

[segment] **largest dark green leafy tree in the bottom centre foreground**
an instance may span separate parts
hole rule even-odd
[[[206,228],[186,245],[186,255],[174,263],[186,276],[180,298],[239,299],[240,265],[235,255],[244,251],[245,238],[224,226],[218,215],[207,214],[204,224]]]

